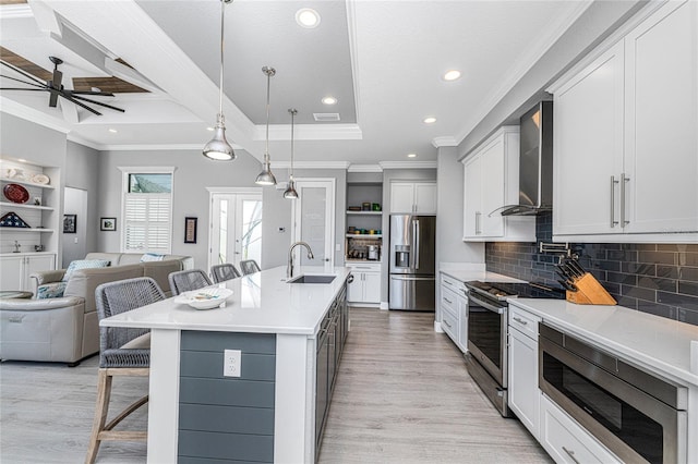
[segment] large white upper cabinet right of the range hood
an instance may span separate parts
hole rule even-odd
[[[697,11],[667,2],[550,89],[556,241],[698,236]]]

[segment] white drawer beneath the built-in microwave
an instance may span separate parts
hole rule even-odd
[[[540,399],[539,441],[556,463],[622,462],[547,396],[541,393]]]

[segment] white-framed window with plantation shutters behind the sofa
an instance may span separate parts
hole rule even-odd
[[[123,172],[123,253],[171,253],[171,172]]]

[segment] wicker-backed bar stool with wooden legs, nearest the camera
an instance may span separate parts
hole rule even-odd
[[[95,290],[99,320],[165,300],[158,284],[148,277],[103,283]],[[148,395],[136,400],[108,424],[111,381],[117,376],[147,377],[151,373],[151,332],[148,329],[123,327],[99,328],[99,374],[97,405],[89,447],[85,462],[97,457],[99,444],[105,440],[144,441],[146,430],[113,430],[129,414],[147,403]]]

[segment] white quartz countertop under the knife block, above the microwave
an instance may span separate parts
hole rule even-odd
[[[669,379],[698,386],[698,327],[623,306],[578,305],[564,300],[508,298],[547,325],[590,341],[610,354]]]

